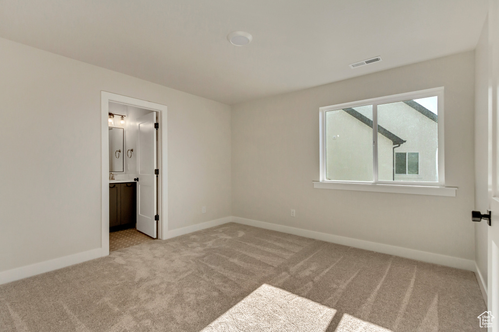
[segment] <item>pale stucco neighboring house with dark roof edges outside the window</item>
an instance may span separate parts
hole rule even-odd
[[[437,182],[437,122],[415,101],[378,105],[378,179]],[[326,177],[373,180],[372,106],[326,112]]]

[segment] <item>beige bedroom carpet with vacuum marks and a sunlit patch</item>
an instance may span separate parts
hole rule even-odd
[[[0,286],[0,331],[481,331],[473,272],[228,223]]]

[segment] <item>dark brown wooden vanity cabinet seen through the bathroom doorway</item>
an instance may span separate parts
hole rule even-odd
[[[135,227],[137,215],[135,182],[109,184],[109,230]]]

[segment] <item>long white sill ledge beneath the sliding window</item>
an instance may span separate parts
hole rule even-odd
[[[347,183],[347,182],[319,182],[313,181],[317,189],[357,190],[379,193],[414,194],[456,197],[455,187],[433,187],[414,185],[387,185],[380,183]]]

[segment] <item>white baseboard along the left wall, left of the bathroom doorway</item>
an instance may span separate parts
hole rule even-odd
[[[49,272],[66,266],[78,264],[90,259],[99,258],[101,256],[102,256],[102,249],[97,248],[3,271],[0,272],[0,285],[6,284],[7,282],[31,277],[36,274]]]

